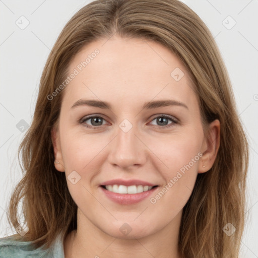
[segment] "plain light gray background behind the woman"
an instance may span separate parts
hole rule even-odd
[[[6,219],[11,191],[22,177],[17,150],[24,132],[16,125],[22,119],[31,123],[40,76],[49,51],[63,26],[89,2],[30,0],[25,4],[18,0],[0,0],[0,237],[16,233],[8,227]],[[250,148],[247,179],[250,219],[246,222],[241,257],[258,257],[258,1],[182,2],[211,30],[233,85],[237,111]],[[26,25],[21,16],[29,21],[25,29],[17,26]],[[234,21],[236,25],[229,29]]]

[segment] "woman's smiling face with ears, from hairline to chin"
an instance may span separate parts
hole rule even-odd
[[[212,145],[204,138],[183,63],[156,42],[112,37],[85,46],[68,74],[52,136],[78,225],[118,238],[178,231],[219,135],[215,120]]]

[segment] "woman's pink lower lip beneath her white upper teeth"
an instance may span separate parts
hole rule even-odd
[[[115,203],[122,204],[122,205],[130,205],[136,204],[144,199],[150,197],[153,192],[158,188],[154,187],[151,190],[143,191],[139,193],[116,193],[105,189],[104,187],[100,186],[102,191],[105,193],[106,197],[112,200]]]

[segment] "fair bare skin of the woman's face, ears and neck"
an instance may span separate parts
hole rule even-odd
[[[65,171],[78,206],[77,231],[64,240],[65,257],[180,258],[182,209],[198,173],[207,172],[215,161],[220,122],[210,124],[211,134],[205,139],[198,98],[183,63],[156,42],[118,36],[97,40],[74,57],[69,74],[96,48],[100,53],[64,90],[58,126],[52,130],[55,159],[60,162],[55,168]],[[170,76],[175,68],[184,73],[179,81]],[[80,99],[106,101],[111,108],[71,108]],[[180,101],[188,108],[142,108],[145,102],[165,99]],[[99,117],[97,123],[85,119],[90,114]],[[163,125],[159,122],[162,114],[178,122],[168,118]],[[124,119],[133,126],[126,133],[119,127]],[[155,197],[198,153],[202,156],[191,162],[155,204],[150,198],[117,204],[101,189],[106,180],[140,179],[158,185],[150,196]],[[68,180],[72,171],[81,176],[75,184]],[[119,230],[124,223],[132,229],[126,235]]]

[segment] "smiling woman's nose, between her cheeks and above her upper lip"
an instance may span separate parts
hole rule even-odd
[[[135,166],[141,166],[146,162],[147,147],[140,139],[136,126],[128,132],[123,127],[118,127],[117,135],[110,146],[108,160],[113,166],[123,170],[130,170]]]

